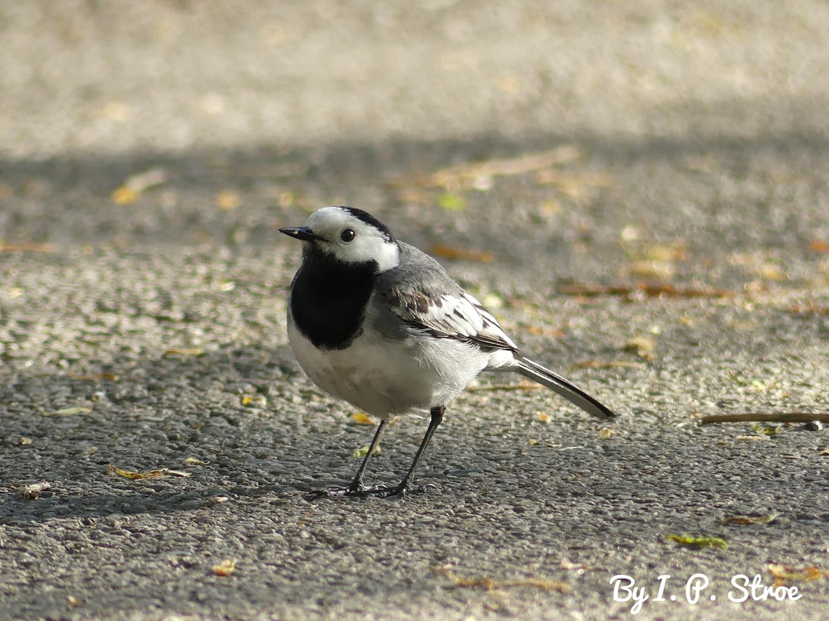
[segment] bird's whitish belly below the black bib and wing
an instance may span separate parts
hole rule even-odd
[[[317,386],[384,420],[445,405],[489,361],[477,347],[451,339],[390,341],[365,332],[346,349],[318,350],[292,322],[288,342]]]

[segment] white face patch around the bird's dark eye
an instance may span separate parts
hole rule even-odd
[[[400,250],[394,240],[390,240],[383,230],[362,221],[342,207],[323,207],[314,211],[305,226],[323,238],[314,241],[314,244],[346,263],[376,261],[380,272],[399,263]],[[353,240],[346,242],[340,238],[346,229],[354,231]]]

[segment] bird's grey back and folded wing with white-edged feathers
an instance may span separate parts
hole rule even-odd
[[[378,279],[378,293],[391,313],[433,337],[516,351],[492,313],[461,289],[437,261],[413,246],[400,246],[400,265]]]

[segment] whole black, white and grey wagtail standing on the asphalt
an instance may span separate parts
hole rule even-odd
[[[381,221],[345,206],[279,229],[303,241],[291,283],[288,341],[300,366],[329,394],[380,419],[356,477],[331,494],[403,495],[446,404],[481,371],[517,371],[601,419],[615,416],[562,376],[519,352],[477,299],[429,255],[395,240]],[[363,484],[371,454],[395,415],[431,420],[396,488]]]

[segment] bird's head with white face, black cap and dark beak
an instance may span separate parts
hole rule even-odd
[[[389,227],[354,207],[324,207],[304,226],[286,226],[280,233],[303,241],[303,259],[343,264],[376,264],[376,273],[396,267],[400,248]]]

